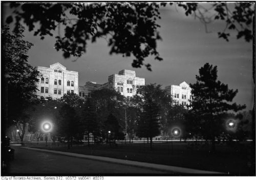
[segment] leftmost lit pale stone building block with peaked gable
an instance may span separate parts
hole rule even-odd
[[[68,92],[78,94],[78,72],[67,70],[60,63],[36,69],[42,74],[37,84],[38,96],[60,98]]]

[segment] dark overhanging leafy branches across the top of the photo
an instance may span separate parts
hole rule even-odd
[[[208,9],[198,3],[169,3],[173,4],[183,8],[187,16],[200,19],[206,31],[208,23],[224,20],[226,28],[218,33],[220,38],[228,40],[227,30],[236,30],[237,38],[244,37],[246,41],[253,38],[250,30],[253,3],[211,3]],[[144,63],[146,57],[162,60],[156,49],[157,40],[161,39],[160,25],[157,24],[157,19],[161,18],[160,6],[166,6],[166,3],[11,3],[14,15],[7,17],[6,22],[11,23],[13,17],[16,24],[24,20],[29,31],[34,31],[34,35],[41,39],[46,35],[53,36],[53,31],[64,25],[65,34],[55,37],[55,48],[62,50],[65,58],[80,57],[86,53],[89,40],[95,42],[103,37],[111,47],[110,54],[133,55],[133,67],[145,65],[151,70],[151,65]],[[40,24],[39,29],[34,30],[35,24]]]

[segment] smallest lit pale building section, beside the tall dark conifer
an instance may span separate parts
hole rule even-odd
[[[173,97],[174,104],[189,105],[189,100],[192,100],[191,88],[186,82],[181,83],[179,86],[166,86],[165,91]]]

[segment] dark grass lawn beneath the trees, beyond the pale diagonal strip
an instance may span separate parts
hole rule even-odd
[[[154,143],[150,150],[147,143],[95,144],[88,146],[31,146],[80,153],[83,155],[103,156],[139,162],[163,164],[194,168],[208,171],[224,172],[229,175],[255,175],[255,169],[250,168],[251,146],[249,142],[216,144],[216,152],[209,153],[210,144],[201,143]],[[173,149],[173,150],[172,150]],[[254,151],[255,152],[255,151]],[[255,162],[255,160],[254,160]]]

